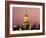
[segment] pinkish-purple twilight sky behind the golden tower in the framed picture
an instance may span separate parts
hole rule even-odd
[[[29,17],[29,21],[34,24],[40,24],[40,9],[39,8],[24,8],[24,7],[13,7],[13,18],[14,18],[14,24],[16,25],[22,25],[23,24],[23,18],[26,14]]]

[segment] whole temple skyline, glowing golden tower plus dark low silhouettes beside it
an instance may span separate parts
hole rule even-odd
[[[13,30],[21,31],[21,30],[38,30],[38,29],[40,29],[40,25],[36,25],[36,22],[35,22],[35,24],[32,24],[32,21],[29,20],[27,10],[26,10],[26,14],[23,18],[24,18],[23,24],[20,26],[19,25],[17,26],[15,23],[13,26]]]

